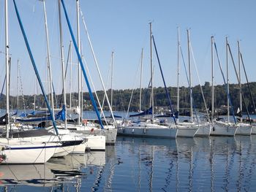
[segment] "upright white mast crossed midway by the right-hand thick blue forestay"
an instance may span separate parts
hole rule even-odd
[[[80,53],[80,22],[79,22],[79,0],[77,0],[77,31],[78,31],[78,52]],[[80,69],[80,65],[79,65],[79,61],[78,61],[78,109],[79,114],[78,114],[78,125],[80,125],[81,123],[81,115],[82,115],[82,111],[81,111],[81,69]]]

